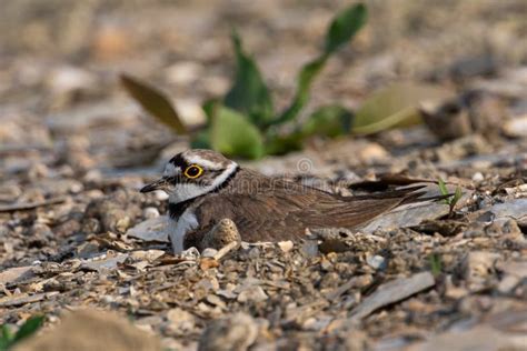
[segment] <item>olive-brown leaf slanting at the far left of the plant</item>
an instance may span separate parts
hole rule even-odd
[[[178,112],[170,100],[158,89],[139,81],[128,74],[121,74],[125,90],[151,116],[167,124],[177,133],[186,134],[187,128],[181,122]]]

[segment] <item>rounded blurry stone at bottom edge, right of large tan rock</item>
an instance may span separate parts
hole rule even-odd
[[[243,351],[256,341],[258,324],[246,313],[236,313],[210,322],[202,332],[199,351]]]

